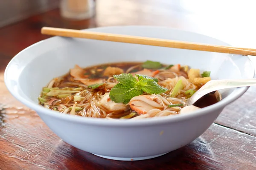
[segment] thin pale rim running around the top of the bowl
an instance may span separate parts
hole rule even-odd
[[[182,32],[188,32],[190,34],[198,34],[198,35],[203,35],[205,37],[209,37],[211,39],[215,39],[218,40],[214,37],[210,37],[204,34],[199,34],[196,32],[192,32],[192,31],[186,31],[186,30],[182,30],[182,29],[177,29],[177,28],[168,28],[168,27],[162,27],[162,26],[106,26],[106,27],[96,27],[96,28],[88,28],[88,29],[83,29],[83,30],[88,30],[88,31],[101,31],[102,29],[105,28],[123,28],[123,27],[134,27],[134,28],[160,28],[160,29],[168,29],[168,30],[175,30],[175,31],[182,31]],[[97,126],[122,126],[122,127],[126,127],[126,126],[144,126],[144,125],[159,125],[159,124],[165,124],[165,123],[172,123],[172,122],[179,122],[179,121],[184,121],[184,120],[188,120],[188,119],[193,119],[205,114],[209,114],[211,111],[215,111],[218,109],[223,109],[226,105],[230,104],[231,102],[235,101],[236,99],[238,99],[240,96],[242,96],[249,87],[241,87],[241,88],[236,88],[236,94],[233,96],[233,98],[230,99],[224,99],[221,100],[220,102],[217,102],[213,105],[207,106],[205,108],[196,110],[191,112],[190,114],[177,114],[177,115],[172,115],[172,116],[163,116],[163,117],[154,117],[154,118],[149,118],[149,119],[102,119],[102,118],[90,118],[90,117],[82,117],[82,116],[73,116],[73,115],[69,115],[69,114],[60,114],[56,111],[52,111],[49,110],[47,108],[42,107],[41,105],[38,105],[35,102],[32,101],[28,101],[27,99],[23,98],[21,95],[19,95],[18,93],[15,92],[15,90],[13,89],[12,85],[10,85],[9,79],[6,77],[7,76],[7,72],[10,70],[10,65],[12,65],[12,62],[20,55],[20,53],[23,53],[23,51],[29,50],[29,48],[32,48],[35,45],[38,45],[46,40],[52,39],[52,38],[56,38],[59,36],[54,36],[54,37],[50,37],[47,38],[45,40],[41,40],[39,42],[36,42],[30,46],[28,46],[27,48],[23,49],[22,51],[20,51],[18,54],[15,55],[15,57],[13,57],[10,62],[8,63],[5,72],[4,72],[4,82],[6,84],[6,87],[8,89],[8,91],[12,94],[12,96],[14,96],[18,101],[20,101],[21,103],[23,103],[24,105],[26,105],[28,108],[34,110],[37,113],[42,113],[42,114],[46,114],[48,116],[52,116],[55,117],[57,119],[62,119],[64,121],[72,121],[72,122],[77,122],[77,123],[86,123],[87,125],[97,125]],[[230,45],[222,40],[218,40],[220,42],[223,42],[227,45]],[[232,46],[232,45],[230,45]],[[253,66],[253,63],[251,62],[250,58],[248,56],[243,56],[243,57],[247,57],[247,59],[250,62],[250,65],[253,69],[253,73],[249,76],[250,78],[254,77],[255,74],[255,69]],[[38,114],[40,116],[40,114]]]

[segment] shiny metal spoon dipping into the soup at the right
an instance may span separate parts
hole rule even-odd
[[[204,95],[211,93],[212,91],[217,91],[227,88],[238,88],[256,85],[256,79],[220,79],[220,80],[210,80],[205,85],[203,85],[193,96],[191,96],[186,104],[193,105],[198,99]]]

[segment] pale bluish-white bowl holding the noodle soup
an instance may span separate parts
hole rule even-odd
[[[170,28],[122,26],[89,31],[228,45],[201,34]],[[16,99],[35,110],[65,142],[116,160],[150,159],[185,146],[204,133],[223,108],[248,89],[221,91],[223,99],[220,102],[193,113],[140,120],[116,121],[64,115],[37,104],[42,87],[52,78],[66,74],[75,64],[87,67],[106,62],[143,62],[147,59],[211,71],[212,79],[254,76],[249,58],[240,55],[52,37],[17,54],[6,68],[5,83]]]

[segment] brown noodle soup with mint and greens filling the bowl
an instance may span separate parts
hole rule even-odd
[[[38,102],[64,114],[108,119],[170,116],[217,102],[208,94],[195,106],[189,99],[211,78],[209,71],[160,62],[124,62],[81,68],[44,87]],[[198,107],[196,107],[198,106]],[[184,108],[185,107],[185,108]],[[184,109],[183,109],[184,108]]]

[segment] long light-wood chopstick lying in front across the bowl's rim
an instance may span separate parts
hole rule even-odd
[[[87,38],[87,39],[93,39],[93,40],[125,42],[125,43],[132,43],[132,44],[153,45],[153,46],[169,47],[169,48],[181,48],[181,49],[198,50],[198,51],[210,51],[210,52],[219,52],[219,53],[256,56],[256,49],[251,49],[251,48],[237,48],[237,47],[231,47],[231,46],[209,45],[209,44],[202,44],[202,43],[195,43],[195,42],[183,42],[183,41],[165,40],[165,39],[149,38],[149,37],[137,37],[137,36],[120,35],[120,34],[80,31],[80,30],[65,29],[65,28],[43,27],[41,29],[41,33],[47,34],[47,35],[53,35],[53,36],[62,36],[62,37]]]

